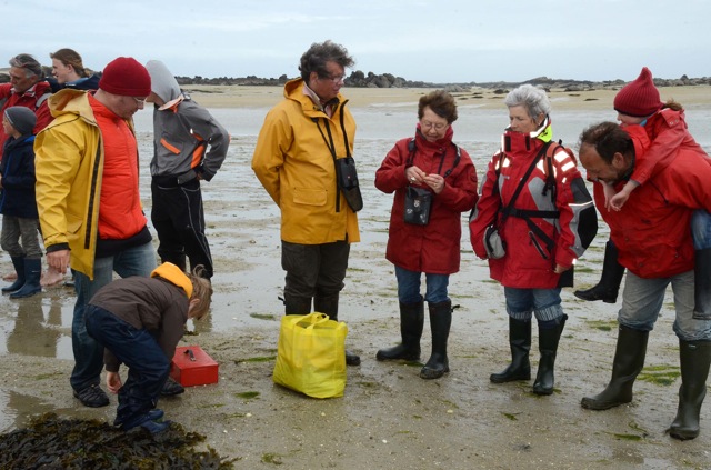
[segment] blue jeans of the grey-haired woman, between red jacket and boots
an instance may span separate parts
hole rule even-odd
[[[555,289],[519,289],[503,288],[507,299],[507,312],[514,320],[530,321],[533,314],[539,322],[554,321],[558,324],[563,316],[560,304],[560,288]]]

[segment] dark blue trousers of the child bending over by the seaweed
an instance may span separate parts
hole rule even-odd
[[[113,426],[132,428],[146,420],[170,372],[170,360],[148,330],[139,330],[108,310],[87,306],[87,332],[103,344],[129,373],[119,390]]]

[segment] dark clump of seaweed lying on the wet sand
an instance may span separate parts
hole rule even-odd
[[[182,426],[151,434],[121,431],[98,420],[60,419],[46,413],[28,428],[0,434],[0,469],[232,469],[237,459],[192,447],[204,436]]]

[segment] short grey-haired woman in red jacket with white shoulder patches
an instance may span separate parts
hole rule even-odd
[[[553,367],[565,319],[561,287],[594,238],[597,213],[569,150],[552,140],[550,101],[530,84],[511,91],[510,126],[487,171],[470,221],[477,256],[489,259],[491,278],[503,286],[509,313],[511,364],[494,383],[529,380],[531,320],[539,328],[537,394],[553,393]],[[492,236],[493,233],[493,236]],[[569,271],[569,276],[561,276]]]

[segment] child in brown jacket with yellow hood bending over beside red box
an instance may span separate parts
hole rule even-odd
[[[186,322],[201,319],[210,308],[212,288],[200,277],[201,269],[186,274],[166,262],[150,278],[118,279],[90,300],[87,331],[106,348],[107,388],[119,396],[113,426],[153,433],[168,428],[169,421],[156,421],[163,412],[153,408]],[[126,383],[119,374],[121,363],[129,368]]]

